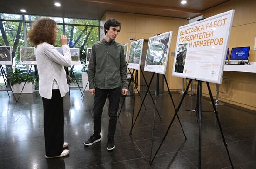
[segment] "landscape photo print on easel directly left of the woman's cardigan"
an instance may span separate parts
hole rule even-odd
[[[36,65],[34,47],[20,47],[20,64]]]

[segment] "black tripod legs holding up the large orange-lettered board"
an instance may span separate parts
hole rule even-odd
[[[196,80],[196,79],[195,79],[195,80]],[[160,149],[160,147],[162,146],[162,143],[164,142],[164,140],[165,140],[165,138],[166,138],[166,136],[167,136],[167,134],[168,134],[168,131],[170,130],[171,125],[172,125],[172,123],[174,122],[175,117],[176,117],[176,116],[178,117],[178,111],[179,111],[179,109],[180,109],[180,107],[181,107],[181,105],[182,105],[182,102],[183,102],[183,100],[184,100],[184,98],[185,98],[185,96],[186,96],[186,94],[187,94],[187,92],[188,92],[189,85],[191,84],[191,82],[192,82],[192,79],[189,80],[189,84],[188,84],[188,86],[186,87],[186,90],[185,90],[184,94],[182,95],[181,101],[180,101],[180,103],[179,103],[177,109],[175,109],[175,115],[174,115],[174,117],[172,118],[171,123],[170,123],[169,126],[168,126],[168,129],[167,129],[167,131],[166,131],[166,133],[165,133],[165,135],[164,135],[164,137],[163,137],[163,139],[162,139],[162,142],[160,143],[158,149],[157,149],[156,152],[155,152],[155,156],[156,156],[156,154],[158,153],[158,150]],[[197,84],[197,100],[196,100],[195,112],[196,112],[197,123],[198,123],[198,128],[199,128],[199,140],[198,140],[198,142],[199,142],[199,143],[198,143],[198,144],[199,144],[199,149],[198,149],[198,169],[201,169],[201,147],[202,147],[202,145],[201,145],[201,143],[202,143],[202,142],[201,142],[201,140],[202,140],[202,139],[201,139],[201,134],[202,134],[201,123],[202,123],[202,112],[206,112],[206,111],[202,111],[202,102],[201,102],[201,100],[202,100],[202,81],[197,80],[197,82],[198,82],[198,84]],[[215,103],[214,103],[214,99],[213,99],[213,96],[212,96],[212,92],[211,92],[211,89],[210,89],[209,82],[206,82],[206,84],[207,84],[207,88],[208,88],[208,91],[209,91],[210,99],[211,99],[211,102],[212,102],[212,105],[213,105],[214,113],[215,113],[215,116],[216,116],[216,119],[217,119],[217,122],[218,122],[218,125],[219,125],[219,128],[220,128],[220,131],[221,131],[222,140],[223,140],[224,146],[225,146],[225,148],[226,148],[227,154],[228,154],[228,156],[229,156],[229,162],[230,162],[230,164],[231,164],[232,169],[234,169],[233,163],[232,163],[231,158],[230,158],[230,155],[229,155],[228,144],[227,144],[227,142],[226,142],[226,140],[225,140],[225,137],[224,137],[224,134],[223,134],[223,131],[222,131],[222,126],[221,126],[221,123],[220,123],[220,120],[219,120],[219,117],[218,117],[218,111],[217,111],[216,105],[215,105]],[[178,118],[178,119],[179,119],[179,118]],[[183,130],[183,129],[182,129],[182,130]],[[154,159],[155,159],[155,156],[154,156],[153,159],[150,161],[151,164],[153,163],[153,161],[154,161]],[[150,158],[150,159],[151,159],[151,158]]]

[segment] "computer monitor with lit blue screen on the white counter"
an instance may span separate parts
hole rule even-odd
[[[248,62],[250,46],[248,47],[234,47],[231,50],[230,62]]]

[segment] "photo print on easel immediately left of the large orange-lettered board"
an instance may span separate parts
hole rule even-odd
[[[172,31],[148,39],[144,71],[165,74]]]

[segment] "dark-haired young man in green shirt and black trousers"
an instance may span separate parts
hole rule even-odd
[[[88,65],[89,88],[94,97],[94,134],[84,142],[85,146],[101,141],[101,115],[108,96],[109,124],[107,150],[114,150],[114,135],[121,93],[127,94],[127,67],[123,45],[115,42],[121,23],[111,18],[104,24],[105,37],[95,42]]]

